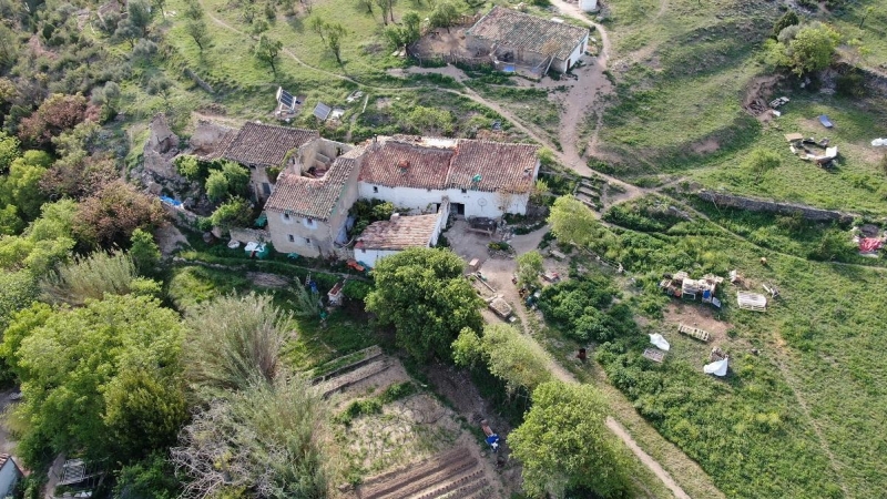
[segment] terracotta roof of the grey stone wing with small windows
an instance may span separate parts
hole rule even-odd
[[[345,183],[357,167],[355,157],[361,152],[363,147],[355,147],[340,155],[322,179],[282,173],[265,203],[265,210],[320,221],[329,220],[333,208],[346,190]]]

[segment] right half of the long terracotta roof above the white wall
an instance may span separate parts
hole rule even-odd
[[[539,146],[460,140],[447,177],[448,189],[529,192]],[[473,182],[479,176],[478,182]]]

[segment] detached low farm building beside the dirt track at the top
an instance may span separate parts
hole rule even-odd
[[[493,62],[528,67],[546,74],[565,73],[589,43],[589,30],[496,6],[468,31],[466,47],[489,54]],[[497,64],[498,67],[499,64]]]

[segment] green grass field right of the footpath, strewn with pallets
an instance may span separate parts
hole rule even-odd
[[[744,223],[765,226],[767,221],[746,217]],[[638,284],[622,281],[621,299],[645,315],[636,336],[598,349],[609,381],[696,460],[722,492],[879,497],[887,486],[878,457],[886,442],[879,428],[887,422],[887,368],[878,356],[887,348],[879,333],[878,310],[887,293],[881,268],[778,254],[702,220],[672,222],[649,233],[618,228],[594,249],[622,262],[636,278]],[[767,256],[767,266],[761,256]],[[585,266],[595,268],[593,262]],[[694,276],[735,268],[752,291],[768,283],[782,296],[771,301],[766,313],[741,310],[735,288],[725,285],[725,306],[715,317],[727,334],[699,343],[676,333],[676,319],[660,315],[677,301],[655,284],[662,273],[679,268]],[[641,357],[648,332],[660,332],[672,344],[663,365]],[[546,334],[555,355],[574,352],[577,345],[562,332]],[[724,379],[702,373],[713,346],[731,355],[732,374]]]

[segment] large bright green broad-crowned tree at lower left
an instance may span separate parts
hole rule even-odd
[[[109,295],[49,313],[12,354],[26,462],[45,450],[126,462],[169,447],[187,418],[181,342],[176,314],[147,297]]]

